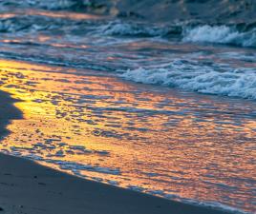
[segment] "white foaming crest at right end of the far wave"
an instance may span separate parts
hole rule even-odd
[[[256,47],[256,28],[240,31],[235,26],[203,25],[184,29],[182,41]]]

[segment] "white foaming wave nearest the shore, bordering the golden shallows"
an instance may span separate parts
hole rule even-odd
[[[128,69],[120,76],[142,84],[256,100],[256,70],[252,68],[223,69],[177,60],[167,68]]]

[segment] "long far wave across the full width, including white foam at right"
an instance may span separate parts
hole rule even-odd
[[[177,23],[172,25],[151,25],[132,21],[107,20],[72,20],[69,18],[53,18],[43,15],[16,14],[10,18],[0,18],[0,32],[65,30],[72,33],[80,32],[112,35],[139,36],[178,39],[191,43],[215,43],[239,47],[256,48],[256,27],[239,30],[234,26],[209,26],[192,23]]]

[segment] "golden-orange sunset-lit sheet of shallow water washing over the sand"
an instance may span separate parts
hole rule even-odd
[[[255,103],[132,85],[90,70],[1,60],[0,71],[0,89],[20,100],[15,106],[24,114],[8,127],[3,151],[161,196],[252,206]]]

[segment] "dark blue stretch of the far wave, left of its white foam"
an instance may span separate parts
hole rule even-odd
[[[72,20],[69,18],[53,18],[47,15],[15,14],[9,18],[0,18],[0,32],[40,31],[64,29],[72,32],[76,29],[90,34],[113,36],[165,37],[181,35],[179,26],[148,26],[142,23],[105,21],[105,20]]]

